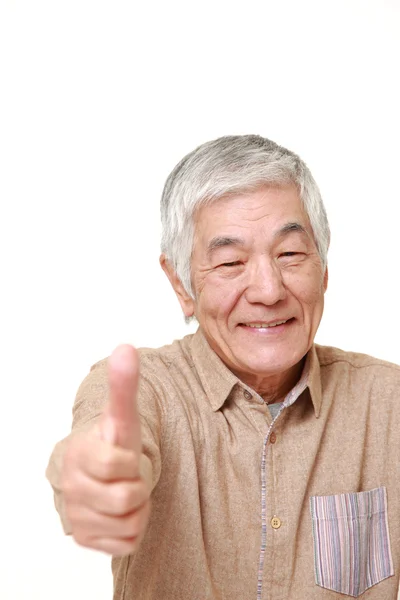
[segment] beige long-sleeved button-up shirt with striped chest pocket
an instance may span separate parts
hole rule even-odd
[[[273,420],[199,330],[142,349],[139,411],[152,513],[112,561],[114,600],[395,600],[400,575],[400,367],[314,345]],[[73,431],[101,413],[106,360]],[[47,476],[65,531],[59,479]]]

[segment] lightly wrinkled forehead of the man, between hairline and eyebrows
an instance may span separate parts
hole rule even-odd
[[[195,218],[195,241],[207,242],[216,234],[273,236],[287,223],[311,226],[295,185],[263,186],[252,192],[231,194],[202,206]]]

